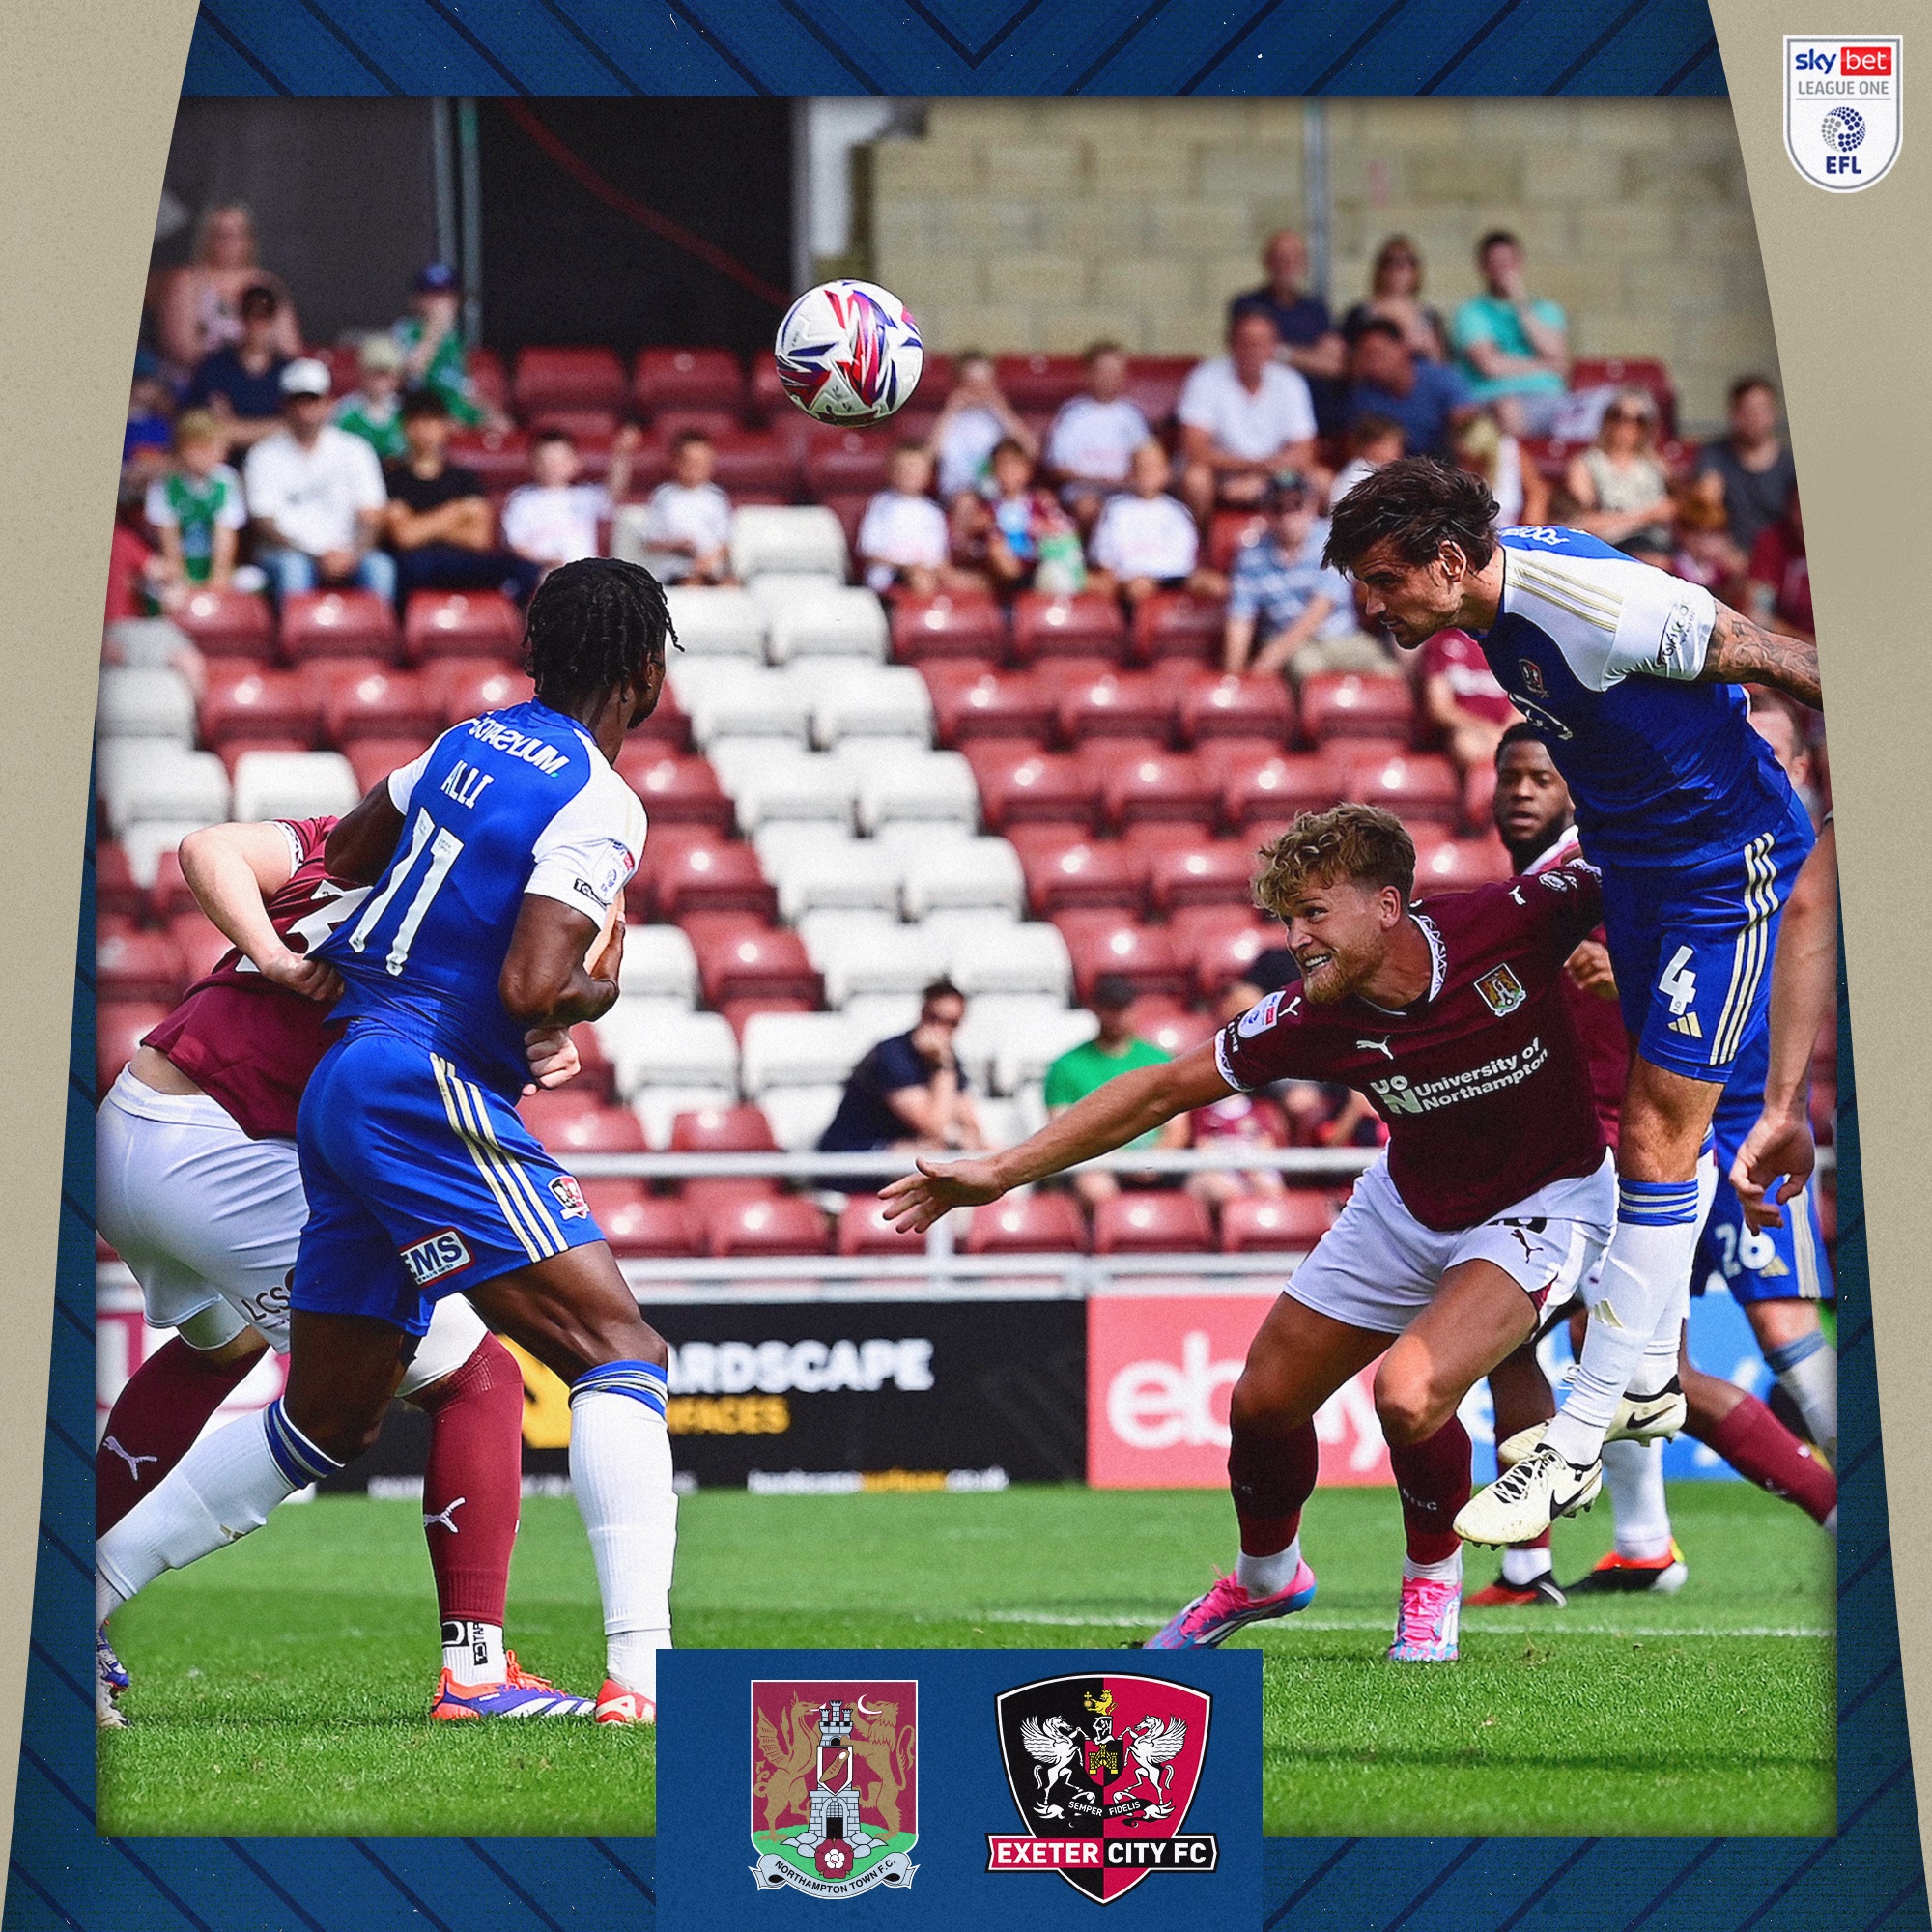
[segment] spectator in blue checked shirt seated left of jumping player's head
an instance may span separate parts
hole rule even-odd
[[[1225,670],[1287,670],[1296,688],[1321,670],[1401,676],[1389,647],[1356,626],[1349,580],[1321,562],[1325,541],[1308,483],[1293,471],[1279,477],[1267,498],[1267,529],[1235,556],[1221,638]]]

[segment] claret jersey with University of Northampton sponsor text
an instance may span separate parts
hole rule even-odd
[[[1602,918],[1584,864],[1422,900],[1430,989],[1401,1010],[1271,993],[1215,1036],[1238,1090],[1335,1080],[1389,1124],[1389,1179],[1437,1231],[1474,1227],[1604,1165],[1563,962]]]

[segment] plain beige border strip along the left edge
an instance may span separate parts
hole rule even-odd
[[[33,1611],[68,1014],[106,535],[193,0],[12,0],[0,33],[0,1826]]]

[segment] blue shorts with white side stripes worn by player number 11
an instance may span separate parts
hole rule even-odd
[[[421,1335],[444,1294],[603,1240],[510,1101],[381,1028],[352,1026],[315,1068],[296,1148],[309,1221],[290,1308]]]

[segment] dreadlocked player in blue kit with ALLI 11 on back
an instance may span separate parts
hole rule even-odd
[[[526,1034],[616,1001],[643,808],[612,759],[657,703],[670,639],[647,570],[554,570],[526,632],[535,699],[452,726],[328,835],[330,875],[371,891],[315,954],[342,976],[346,1026],[296,1124],[309,1221],[288,1387],[108,1532],[100,1621],[361,1455],[435,1304],[462,1293],[570,1385],[570,1486],[607,1634],[595,1716],[655,1721],[678,1509],[665,1345],[516,1101]]]

